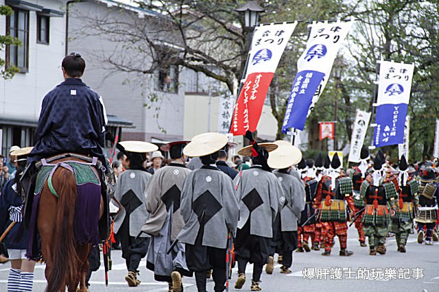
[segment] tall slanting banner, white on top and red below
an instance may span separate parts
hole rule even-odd
[[[274,71],[297,22],[259,25],[254,29],[244,86],[233,109],[230,133],[256,131]]]

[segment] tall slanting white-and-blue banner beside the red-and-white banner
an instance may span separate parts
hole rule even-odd
[[[337,51],[351,26],[352,21],[312,23],[307,48],[297,62],[298,73],[288,99],[283,133],[287,134],[290,127],[303,130],[309,112],[328,82]],[[309,82],[305,84],[307,76]]]

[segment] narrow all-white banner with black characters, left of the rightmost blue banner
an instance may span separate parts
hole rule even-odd
[[[351,137],[351,150],[349,151],[348,161],[359,162],[361,147],[364,144],[364,138],[368,132],[368,125],[370,121],[370,112],[357,110],[357,117],[355,117],[354,130]]]

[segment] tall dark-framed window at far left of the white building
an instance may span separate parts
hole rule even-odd
[[[6,32],[21,41],[19,46],[6,47],[6,63],[25,73],[29,69],[29,11],[12,8],[12,14],[6,20]]]

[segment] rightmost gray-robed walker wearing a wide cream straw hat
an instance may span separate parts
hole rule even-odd
[[[270,153],[268,165],[274,171],[278,182],[281,183],[284,199],[281,203],[280,224],[278,233],[281,235],[278,254],[282,256],[281,273],[291,273],[289,269],[293,264],[293,252],[297,248],[297,221],[300,212],[305,207],[305,188],[300,180],[289,174],[292,165],[296,165],[302,156],[300,150],[293,145],[282,145],[275,142],[279,147]],[[279,216],[279,215],[278,215]]]

